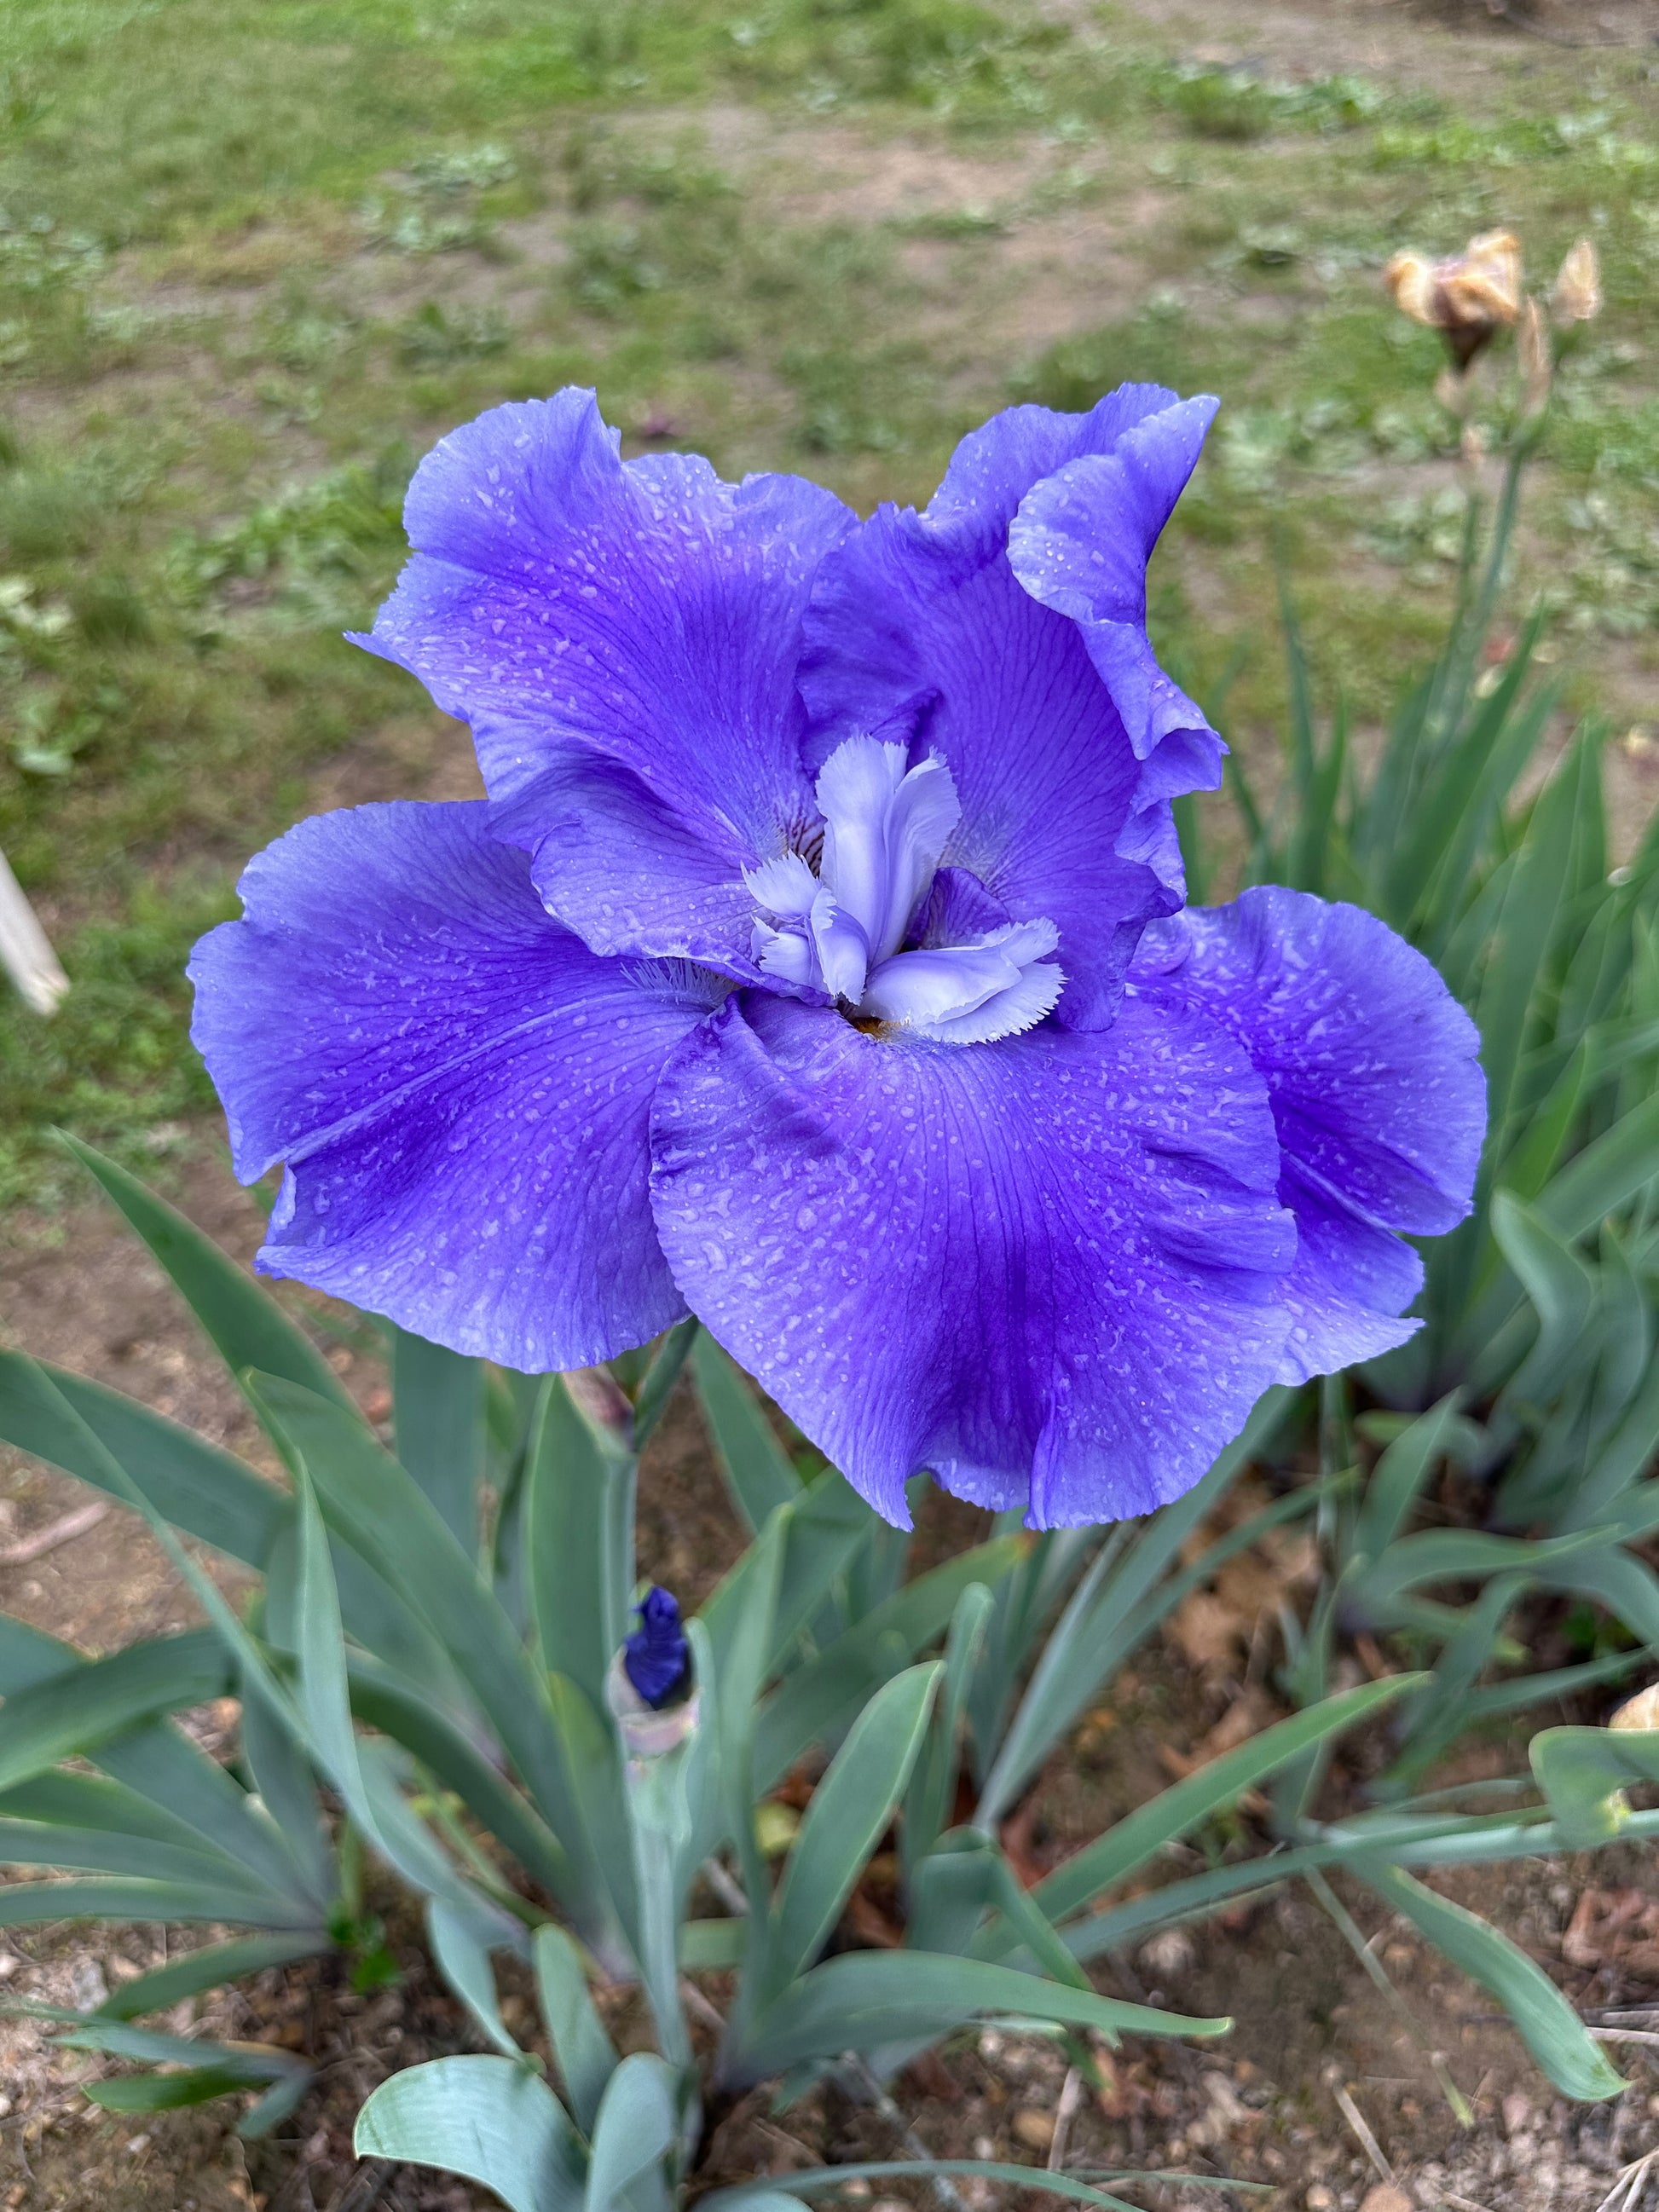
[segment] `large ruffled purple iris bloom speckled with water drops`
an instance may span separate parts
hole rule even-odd
[[[1183,911],[1146,560],[1212,411],[1015,407],[867,522],[588,392],[445,438],[361,641],[489,799],[301,823],[192,960],[261,1267],[529,1371],[690,1310],[900,1524],[1148,1511],[1409,1336],[1473,1024],[1354,907]]]

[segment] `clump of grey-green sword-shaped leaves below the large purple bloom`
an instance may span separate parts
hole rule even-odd
[[[1305,1814],[1334,1739],[1425,1694],[1420,1677],[1310,1697],[1137,1805],[1035,1889],[998,1843],[1055,1745],[1181,1597],[1352,1489],[1336,1471],[1212,1533],[1210,1515],[1296,1394],[1270,1394],[1206,1480],[1144,1522],[1029,1537],[1002,1515],[987,1542],[911,1573],[909,1535],[876,1520],[834,1469],[799,1467],[695,1321],[613,1376],[568,1380],[491,1371],[387,1332],[387,1449],[279,1305],[119,1166],[77,1150],[188,1298],[292,1475],[279,1491],[133,1400],[0,1354],[0,1436],[137,1506],[210,1621],[91,1663],[0,1619],[0,1851],[60,1869],[13,1891],[9,1913],[142,1911],[248,1931],[97,2015],[58,2015],[80,2048],[168,2064],[184,2055],[170,2039],[111,2020],[270,1958],[334,1944],[361,1978],[378,1975],[356,1871],[367,1847],[425,1900],[434,1960],[498,2057],[398,2075],[365,2108],[358,2148],[447,2166],[540,2208],[566,2201],[546,2197],[553,2143],[573,2212],[613,2203],[617,2161],[633,2161],[626,2172],[666,2212],[697,2188],[710,2112],[768,2079],[781,2104],[823,2079],[883,2095],[922,2051],[984,2017],[1062,2035],[1079,2068],[1093,2064],[1079,2028],[1221,2033],[1219,2020],[1102,1997],[1086,1962],[1292,1874],[1318,1893],[1323,1869],[1340,1865],[1504,2002],[1559,2088],[1619,2088],[1548,1978],[1405,1871],[1551,1849],[1546,1807],[1500,1825],[1433,1805],[1329,1829]],[[617,1657],[639,1590],[637,1451],[688,1360],[750,1542],[688,1624],[688,1690],[650,1712]],[[246,1617],[186,1535],[254,1571]],[[210,1781],[217,1770],[170,1714],[232,1686],[241,1776]],[[66,1761],[91,1761],[106,1781]],[[803,1763],[812,1801],[774,1871],[761,1816]],[[1279,1849],[1250,1849],[1232,1823],[1221,1863],[1148,1885],[1170,1843],[1265,1781],[1281,1801]],[[343,1807],[338,1840],[319,1783]],[[1573,1776],[1551,1790],[1568,1825],[1590,1818]],[[1646,1832],[1655,1818],[1630,1825]],[[838,1951],[841,1916],[891,1825],[905,1942]],[[500,1951],[535,1962],[562,2099],[502,2015]],[[597,2028],[595,1969],[639,1984],[655,2053],[622,2059]],[[734,1980],[706,2068],[684,1978],[710,1969]],[[708,2017],[706,1997],[699,2011]],[[243,2053],[232,2068],[197,2046],[186,2075],[119,2077],[95,2095],[146,2110],[257,2086],[243,2128],[261,2128],[305,2093],[294,2062],[272,2053],[261,2073],[263,2059]],[[1115,2201],[1097,2190],[1110,2174],[1060,2179],[1077,2201]]]

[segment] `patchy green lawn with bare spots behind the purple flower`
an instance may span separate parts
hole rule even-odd
[[[0,1203],[53,1199],[49,1121],[144,1155],[208,1102],[188,945],[354,741],[418,717],[338,630],[396,573],[414,458],[504,396],[597,383],[635,449],[867,507],[925,498],[1011,398],[1214,389],[1155,613],[1261,750],[1274,549],[1360,721],[1440,622],[1451,431],[1380,263],[1509,221],[1551,268],[1590,230],[1608,314],[1515,593],[1553,595],[1579,692],[1613,653],[1644,672],[1659,153],[1639,60],[1524,62],[1464,113],[1018,0],[13,0],[0,845],[75,989],[51,1024],[0,1002]],[[914,201],[894,148],[958,184]]]

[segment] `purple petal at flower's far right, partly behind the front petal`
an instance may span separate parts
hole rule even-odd
[[[1486,1133],[1480,1033],[1429,960],[1360,907],[1267,887],[1150,929],[1130,982],[1223,1022],[1267,1082],[1298,1225],[1279,1380],[1405,1343],[1422,1267],[1398,1237],[1462,1221]]]

